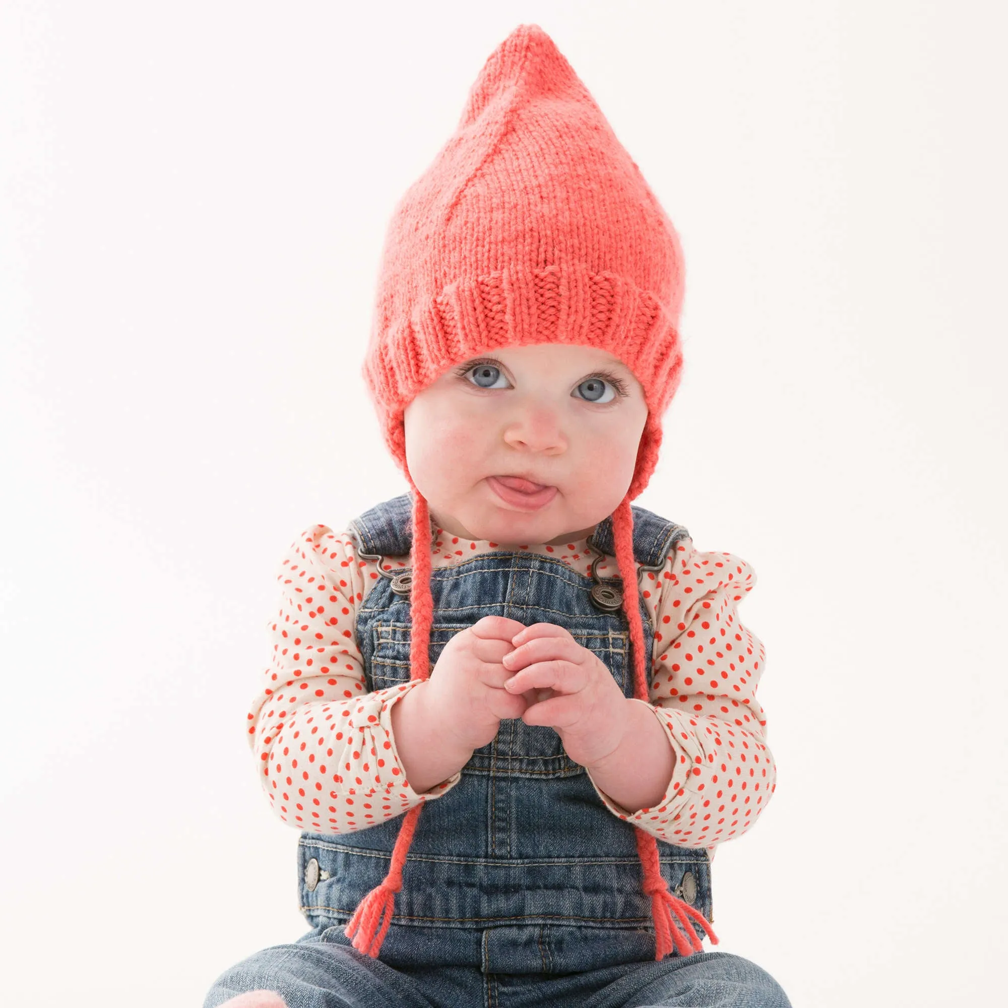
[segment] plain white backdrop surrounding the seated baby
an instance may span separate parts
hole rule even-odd
[[[683,243],[637,503],[757,572],[779,776],[716,948],[795,1008],[1003,996],[1000,8],[7,0],[10,1004],[199,1008],[308,929],[245,737],[275,576],[406,489],[358,377],[384,227],[522,22]]]

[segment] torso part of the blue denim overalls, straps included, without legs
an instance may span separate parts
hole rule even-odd
[[[688,532],[641,507],[634,506],[633,515],[636,560],[660,568]],[[360,554],[382,557],[379,569],[390,556],[408,556],[409,495],[378,504],[350,528]],[[610,518],[599,523],[589,545],[615,553]],[[410,678],[408,569],[382,574],[357,621],[368,690]],[[618,588],[619,579],[610,585]],[[431,666],[454,634],[484,616],[526,626],[548,622],[598,655],[624,696],[634,696],[626,619],[598,577],[540,553],[498,550],[433,569],[430,591]],[[639,605],[650,669],[654,630],[642,600]],[[344,928],[385,878],[401,826],[397,816],[351,834],[301,833],[300,909],[321,940],[351,944]],[[504,974],[653,961],[654,922],[635,832],[606,808],[552,728],[502,721],[494,740],[473,753],[461,780],[423,808],[379,959],[393,967],[465,966]],[[708,852],[661,840],[657,845],[669,890],[713,923]],[[703,938],[702,928],[698,933]]]

